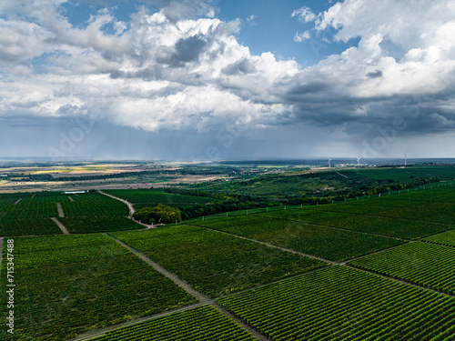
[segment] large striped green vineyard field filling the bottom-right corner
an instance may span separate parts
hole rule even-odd
[[[332,266],[218,302],[273,340],[455,337],[454,297],[346,266]]]

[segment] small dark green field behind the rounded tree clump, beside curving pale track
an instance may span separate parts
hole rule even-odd
[[[125,199],[133,204],[135,209],[158,204],[167,206],[204,205],[214,201],[213,198],[204,196],[182,196],[149,189],[109,189],[104,192]]]

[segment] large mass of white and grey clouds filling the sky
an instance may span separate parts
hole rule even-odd
[[[62,3],[0,5],[0,117],[89,115],[199,134],[308,125],[365,136],[394,119],[402,135],[453,129],[453,2],[346,0],[317,16],[302,7],[293,16],[315,29],[295,41],[328,29],[336,41],[359,38],[310,67],[252,55],[238,43],[240,21],[212,17],[211,2],[155,1],[156,13],[141,7],[128,23],[103,9],[77,27]]]

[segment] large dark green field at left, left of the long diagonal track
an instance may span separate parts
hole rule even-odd
[[[14,253],[17,339],[63,340],[196,302],[107,236],[18,237]],[[5,270],[3,261],[3,288]],[[5,294],[0,296],[4,321],[5,299]],[[0,328],[0,339],[10,339],[5,327]]]

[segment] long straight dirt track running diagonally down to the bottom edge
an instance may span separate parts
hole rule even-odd
[[[187,293],[189,295],[195,296],[199,300],[199,303],[198,303],[199,305],[208,304],[210,306],[213,306],[214,308],[219,310],[221,313],[223,313],[225,316],[227,316],[228,318],[230,318],[231,320],[236,322],[238,324],[238,326],[242,326],[244,329],[248,330],[248,332],[251,333],[251,335],[255,336],[258,340],[261,340],[261,341],[267,341],[268,340],[268,338],[266,336],[263,336],[263,335],[259,334],[258,331],[256,331],[254,328],[252,328],[251,326],[248,326],[245,322],[240,320],[237,316],[234,316],[232,313],[227,311],[227,309],[224,306],[219,305],[215,301],[215,299],[211,299],[211,298],[203,295],[202,293],[198,292],[192,286],[189,286],[186,282],[184,282],[183,280],[178,278],[176,275],[174,275],[170,271],[167,271],[167,269],[165,269],[164,267],[159,266],[157,263],[152,261],[150,258],[148,258],[143,253],[137,251],[135,248],[133,248],[131,246],[126,245],[124,242],[122,242],[121,240],[116,239],[116,237],[114,237],[114,236],[110,236],[107,233],[104,233],[103,235],[112,238],[113,240],[115,240],[121,246],[126,247],[129,251],[131,251],[136,256],[138,256],[143,261],[145,261],[149,266],[153,266],[158,272],[160,272],[164,276],[167,276],[167,278],[171,279],[174,283],[176,283],[177,286],[180,286],[182,289],[187,291]],[[171,312],[169,312],[169,314],[171,314]]]

